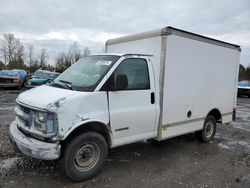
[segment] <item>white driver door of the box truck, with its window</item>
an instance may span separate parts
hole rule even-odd
[[[114,84],[119,76],[127,77],[125,88],[108,93],[110,124],[116,146],[154,136],[155,83],[153,78],[150,79],[150,72],[146,59],[127,58],[111,75]]]

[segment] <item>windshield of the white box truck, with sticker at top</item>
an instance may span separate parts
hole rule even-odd
[[[80,59],[55,79],[54,83],[67,83],[75,90],[93,91],[119,56],[98,55]]]

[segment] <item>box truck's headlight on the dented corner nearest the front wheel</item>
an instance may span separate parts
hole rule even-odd
[[[44,136],[54,136],[57,133],[57,115],[52,112],[35,113],[34,128]]]

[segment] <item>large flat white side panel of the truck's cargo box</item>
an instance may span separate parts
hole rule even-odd
[[[162,124],[203,118],[213,108],[232,112],[238,55],[235,49],[169,35]]]

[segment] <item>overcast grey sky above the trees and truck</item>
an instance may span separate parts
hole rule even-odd
[[[73,42],[98,53],[107,39],[165,26],[239,44],[250,65],[249,0],[0,0],[0,38],[47,48],[51,62]]]

